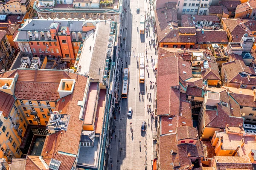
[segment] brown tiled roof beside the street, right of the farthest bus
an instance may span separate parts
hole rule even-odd
[[[176,9],[159,8],[155,10],[155,22],[157,27],[157,38],[158,41],[161,41],[172,30],[170,27],[178,27]]]

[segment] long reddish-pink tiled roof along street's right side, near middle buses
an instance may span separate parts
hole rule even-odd
[[[160,50],[159,56],[166,54]],[[157,105],[158,115],[179,115],[180,113],[180,80],[192,77],[192,70],[189,62],[177,57],[166,57],[158,59],[157,76]],[[167,93],[166,93],[167,92]],[[172,105],[170,105],[172,103]]]

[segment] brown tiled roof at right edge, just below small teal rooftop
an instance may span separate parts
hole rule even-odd
[[[253,68],[248,67],[244,64],[241,60],[230,61],[222,64],[222,69],[227,76],[227,82],[232,83],[239,83],[242,82],[243,84],[248,85],[256,85],[256,78],[243,76],[239,73],[246,72],[248,74],[256,75]],[[224,75],[223,75],[224,76]]]

